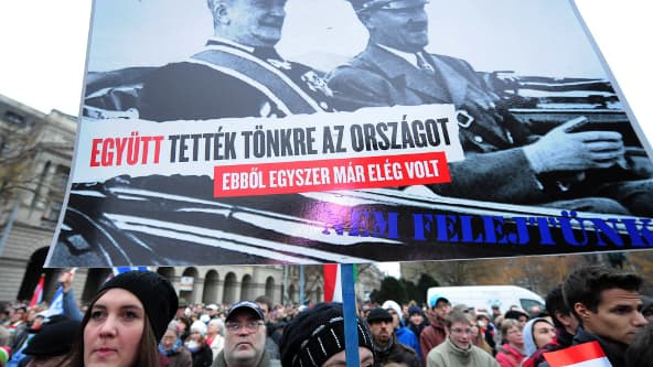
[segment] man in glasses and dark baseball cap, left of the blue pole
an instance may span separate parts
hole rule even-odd
[[[234,304],[225,319],[224,348],[213,361],[213,367],[267,367],[272,366],[266,353],[267,332],[260,306],[251,301]],[[278,365],[278,360],[277,364]]]

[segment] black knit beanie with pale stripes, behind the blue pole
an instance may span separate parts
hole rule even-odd
[[[358,317],[356,330],[358,346],[374,350],[370,328]],[[283,330],[279,342],[283,367],[320,367],[344,348],[341,303],[319,303],[312,310],[299,313]]]

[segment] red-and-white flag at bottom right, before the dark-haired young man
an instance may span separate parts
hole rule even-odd
[[[544,354],[550,367],[612,367],[599,342],[584,343]]]

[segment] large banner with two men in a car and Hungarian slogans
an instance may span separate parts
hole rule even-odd
[[[647,143],[570,1],[96,0],[88,44],[50,266],[653,242]]]

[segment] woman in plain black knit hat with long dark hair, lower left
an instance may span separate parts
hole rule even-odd
[[[172,284],[151,271],[107,281],[90,302],[71,367],[158,367],[158,344],[178,309]]]

